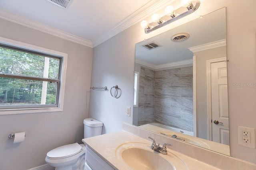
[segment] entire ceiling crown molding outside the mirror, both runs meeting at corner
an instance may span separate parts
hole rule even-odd
[[[161,1],[151,0],[146,5],[142,6],[140,9],[135,11],[133,14],[131,14],[130,16],[128,16],[127,18],[119,22],[114,27],[112,27],[112,29],[100,35],[98,38],[94,39],[94,41],[83,39],[81,37],[72,35],[70,33],[66,33],[64,31],[55,29],[53,27],[44,25],[42,23],[38,23],[36,21],[28,20],[26,18],[22,18],[14,14],[10,14],[3,10],[0,10],[0,18],[13,23],[17,23],[19,25],[23,25],[25,27],[35,29],[37,31],[41,31],[59,38],[63,38],[63,39],[93,48],[105,42],[106,40],[110,39],[111,37],[114,37],[115,35],[124,31],[125,29],[131,27],[132,25],[140,22],[141,20],[144,20],[154,12],[162,9],[163,6],[167,6],[174,1],[175,0],[161,0]]]

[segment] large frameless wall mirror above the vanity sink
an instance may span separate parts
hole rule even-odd
[[[226,8],[136,44],[133,125],[230,155]]]

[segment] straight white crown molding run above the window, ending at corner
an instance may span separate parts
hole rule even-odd
[[[72,42],[75,42],[75,43],[78,43],[78,44],[81,44],[81,45],[85,45],[87,47],[91,47],[91,48],[93,47],[91,41],[88,41],[86,39],[77,37],[77,36],[72,35],[70,33],[66,33],[64,31],[60,31],[60,30],[58,30],[56,28],[53,28],[53,27],[49,27],[49,26],[44,25],[42,23],[38,23],[38,22],[35,22],[35,21],[32,21],[32,20],[22,18],[22,17],[17,16],[17,15],[14,15],[14,14],[10,14],[10,13],[5,12],[3,10],[0,10],[0,18],[3,19],[3,20],[6,20],[6,21],[17,23],[19,25],[23,25],[25,27],[29,27],[29,28],[35,29],[37,31],[41,31],[41,32],[44,32],[44,33],[62,38],[62,39],[66,39],[68,41],[72,41]]]

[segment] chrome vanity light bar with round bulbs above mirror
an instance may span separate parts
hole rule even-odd
[[[181,7],[176,9],[175,11],[173,6],[167,6],[164,10],[166,16],[160,18],[158,14],[154,14],[151,17],[152,23],[148,24],[146,20],[143,20],[140,23],[140,26],[144,28],[145,33],[150,33],[151,31],[154,31],[164,25],[167,25],[168,23],[171,23],[180,18],[183,18],[184,16],[192,14],[199,8],[200,1],[181,0],[180,5]]]

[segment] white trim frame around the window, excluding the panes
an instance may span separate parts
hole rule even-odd
[[[18,47],[18,48],[22,48],[22,49],[27,49],[28,51],[36,51],[38,53],[44,53],[44,54],[47,54],[47,55],[53,55],[53,56],[58,56],[58,57],[62,58],[62,68],[61,68],[61,72],[60,72],[60,93],[59,93],[58,107],[0,109],[0,115],[63,111],[68,54],[62,53],[62,52],[59,52],[59,51],[54,51],[54,50],[51,50],[51,49],[46,49],[46,48],[43,48],[43,47],[38,47],[36,45],[22,43],[20,41],[7,39],[7,38],[4,38],[4,37],[0,37],[0,43],[5,44],[5,45]]]

